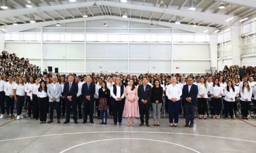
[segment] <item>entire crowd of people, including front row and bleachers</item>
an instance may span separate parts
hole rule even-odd
[[[140,126],[144,123],[150,126],[148,120],[152,108],[154,126],[160,126],[161,111],[166,109],[169,126],[178,126],[180,111],[183,111],[185,126],[193,127],[196,107],[198,118],[207,118],[209,98],[210,113],[212,118],[217,119],[220,118],[222,98],[225,119],[228,115],[234,119],[238,97],[242,117],[248,119],[251,101],[256,100],[256,96],[253,97],[256,95],[256,67],[251,66],[225,66],[223,71],[216,71],[213,75],[206,73],[195,77],[193,74],[185,77],[184,74],[163,73],[140,74],[137,77],[102,73],[54,75],[47,70],[41,72],[28,59],[19,59],[7,52],[0,55],[0,63],[0,119],[6,113],[8,118],[15,118],[15,106],[17,120],[24,118],[22,113],[25,107],[29,119],[46,123],[49,118],[48,123],[51,123],[55,108],[57,123],[60,123],[60,118],[66,118],[64,123],[69,123],[71,113],[75,123],[82,117],[83,123],[86,123],[88,116],[94,123],[96,110],[101,124],[107,124],[110,117],[114,125],[121,125],[122,118],[127,117],[127,126],[135,126],[135,117],[140,117]],[[240,73],[241,69],[244,74]]]

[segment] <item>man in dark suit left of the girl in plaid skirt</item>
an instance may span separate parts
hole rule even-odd
[[[90,123],[94,123],[93,113],[94,113],[95,84],[92,83],[92,78],[90,75],[86,77],[86,83],[82,85],[81,92],[82,92],[83,112],[84,112],[83,123],[87,122],[88,114],[90,114]]]

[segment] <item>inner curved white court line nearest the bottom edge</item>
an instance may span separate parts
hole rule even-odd
[[[184,145],[177,144],[177,143],[172,143],[172,142],[168,142],[168,141],[161,141],[161,140],[154,140],[154,139],[140,139],[140,138],[116,138],[116,139],[103,139],[103,140],[90,141],[90,142],[81,143],[81,144],[72,146],[72,147],[67,148],[67,149],[65,149],[63,151],[60,151],[59,153],[66,152],[66,151],[71,150],[71,149],[73,149],[75,147],[78,147],[78,146],[81,146],[81,145],[86,145],[86,144],[89,144],[89,143],[100,142],[100,141],[112,141],[112,140],[146,140],[146,141],[163,142],[163,143],[168,143],[168,144],[174,144],[174,145],[177,145],[177,146],[184,147],[186,149],[192,150],[194,152],[200,153],[199,151],[197,151],[197,150],[195,150],[193,148],[189,148],[189,147],[186,147]]]

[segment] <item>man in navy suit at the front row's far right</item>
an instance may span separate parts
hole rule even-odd
[[[192,78],[188,77],[187,84],[184,85],[182,89],[182,97],[184,101],[184,110],[185,110],[185,119],[186,119],[185,127],[188,127],[189,121],[190,121],[189,127],[193,127],[194,118],[195,118],[195,109],[197,105],[197,94],[198,94],[197,85],[194,85]]]

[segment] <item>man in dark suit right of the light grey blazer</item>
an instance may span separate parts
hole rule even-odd
[[[67,116],[66,121],[64,122],[69,123],[70,122],[70,109],[72,106],[73,111],[73,119],[75,123],[77,124],[77,92],[78,92],[78,85],[74,82],[74,76],[69,75],[68,82],[65,83],[63,88],[63,93],[65,95],[65,103],[66,103],[66,109],[67,109]]]

